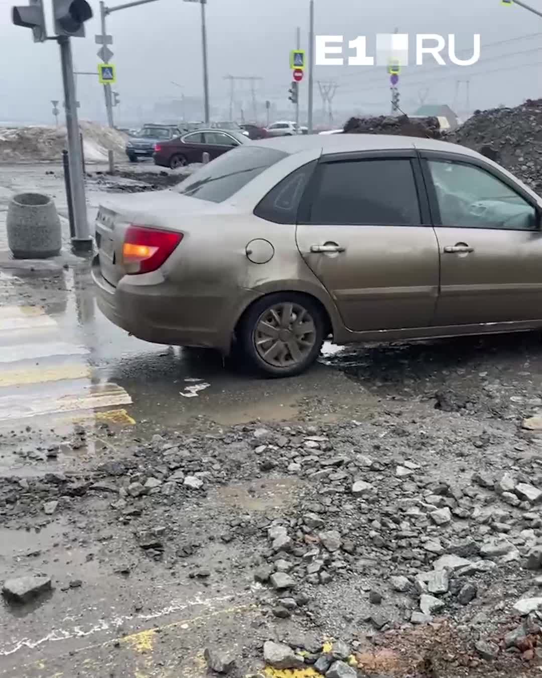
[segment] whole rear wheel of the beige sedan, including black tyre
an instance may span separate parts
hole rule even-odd
[[[324,327],[322,311],[310,297],[276,292],[249,308],[238,327],[238,342],[258,372],[289,377],[314,363]]]

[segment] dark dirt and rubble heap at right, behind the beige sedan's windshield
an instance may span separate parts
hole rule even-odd
[[[475,111],[446,141],[468,146],[542,191],[542,99],[514,108]]]

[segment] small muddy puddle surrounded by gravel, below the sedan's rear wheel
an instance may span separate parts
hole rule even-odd
[[[295,502],[295,494],[304,484],[299,478],[287,476],[257,481],[251,485],[227,485],[217,489],[212,501],[247,511],[280,509]]]

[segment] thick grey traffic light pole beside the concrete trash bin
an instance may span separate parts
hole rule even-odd
[[[83,154],[79,137],[79,121],[77,120],[72,47],[69,37],[65,35],[59,36],[57,40],[60,46],[62,84],[64,85],[64,101],[66,102],[70,188],[75,221],[75,236],[71,239],[72,248],[76,252],[91,252],[92,238],[90,237],[87,220],[87,200],[85,198],[85,178],[83,176]]]

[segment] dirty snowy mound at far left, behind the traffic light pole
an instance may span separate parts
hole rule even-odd
[[[108,151],[124,158],[126,135],[117,129],[81,121],[85,162],[107,162]],[[66,127],[0,128],[0,162],[60,160],[66,148]]]

